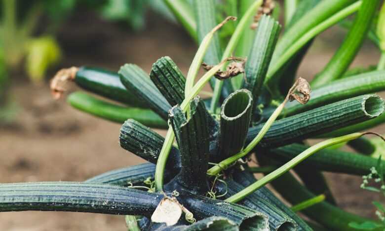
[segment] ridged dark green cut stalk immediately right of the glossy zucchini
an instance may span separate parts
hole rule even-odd
[[[168,119],[171,105],[155,87],[146,72],[135,64],[125,64],[120,67],[118,74],[121,83],[128,91],[132,91],[138,98],[147,102],[149,107],[164,120]]]

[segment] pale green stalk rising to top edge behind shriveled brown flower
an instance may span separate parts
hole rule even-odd
[[[231,54],[234,52],[235,47],[238,44],[238,41],[242,35],[242,32],[247,28],[247,26],[250,26],[250,25],[247,25],[247,22],[255,14],[255,12],[257,11],[257,8],[261,6],[262,2],[263,0],[256,0],[252,5],[250,5],[250,8],[243,14],[241,20],[239,21],[233,34],[231,35],[229,43],[227,44],[227,47],[222,55],[222,61],[229,58]],[[231,80],[231,83],[232,83],[232,80]],[[232,83],[232,86],[234,88],[233,83]],[[223,81],[216,80],[214,93],[213,93],[213,97],[211,99],[211,105],[210,105],[210,111],[213,113],[215,113],[215,109],[221,95],[222,87],[223,87]]]

